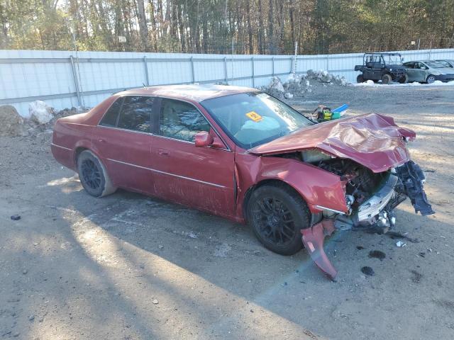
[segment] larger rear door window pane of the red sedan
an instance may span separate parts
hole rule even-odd
[[[117,128],[150,132],[154,97],[127,96],[121,107]]]

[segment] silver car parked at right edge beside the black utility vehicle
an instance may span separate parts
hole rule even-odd
[[[452,81],[454,80],[454,68],[446,67],[441,62],[422,60],[415,62],[405,62],[408,81],[419,81],[432,84],[433,81]]]

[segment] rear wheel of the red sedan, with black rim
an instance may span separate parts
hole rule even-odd
[[[106,168],[93,152],[84,150],[77,157],[77,171],[85,191],[94,197],[110,195],[116,191]]]

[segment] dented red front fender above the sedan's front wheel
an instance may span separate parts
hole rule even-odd
[[[239,162],[238,162],[239,161]],[[313,213],[323,208],[347,212],[345,184],[336,174],[284,157],[257,157],[252,154],[237,155],[237,212],[243,211],[247,193],[265,181],[287,183],[301,195]]]

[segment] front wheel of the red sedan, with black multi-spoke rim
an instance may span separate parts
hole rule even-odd
[[[311,213],[303,198],[286,185],[265,185],[253,191],[247,217],[265,248],[293,255],[303,248],[301,229],[311,226]]]

